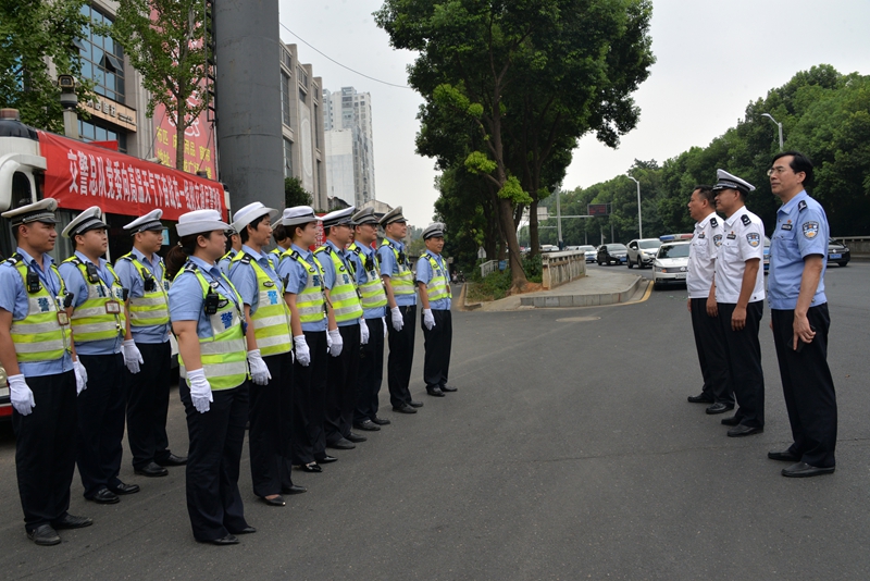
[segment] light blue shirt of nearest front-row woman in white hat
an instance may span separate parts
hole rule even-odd
[[[226,279],[223,277],[221,269],[216,264],[209,264],[199,257],[190,257],[190,262],[199,267],[199,272],[215,293],[236,302],[236,294]],[[197,336],[199,338],[210,338],[213,336],[209,316],[206,314],[204,299],[202,297],[202,286],[192,272],[179,271],[178,276],[170,287],[170,320],[175,321],[197,321]],[[241,311],[241,305],[236,305]],[[243,317],[244,321],[244,317]]]

